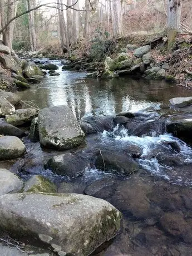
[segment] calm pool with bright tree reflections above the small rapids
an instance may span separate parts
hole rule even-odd
[[[111,115],[121,111],[158,109],[169,104],[172,97],[189,96],[189,91],[163,81],[115,78],[96,80],[85,73],[57,71],[60,76],[47,75],[31,89],[20,92],[24,100],[31,100],[40,108],[68,105],[77,119],[88,115]]]

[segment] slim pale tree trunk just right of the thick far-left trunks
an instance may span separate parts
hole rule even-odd
[[[28,8],[34,8],[35,4],[33,0],[28,1]],[[36,37],[36,31],[35,31],[35,16],[34,16],[34,11],[29,12],[28,14],[28,19],[29,19],[29,38],[30,38],[30,45],[31,45],[31,50],[36,51],[37,48],[37,37]]]

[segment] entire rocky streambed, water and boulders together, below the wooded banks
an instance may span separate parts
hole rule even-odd
[[[1,232],[20,255],[190,255],[190,92],[51,64],[60,75],[0,93]]]

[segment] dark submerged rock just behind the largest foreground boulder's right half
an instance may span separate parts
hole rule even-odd
[[[110,178],[104,178],[93,181],[86,187],[84,193],[86,195],[94,196],[95,198],[107,199],[113,193],[115,189],[115,180]]]

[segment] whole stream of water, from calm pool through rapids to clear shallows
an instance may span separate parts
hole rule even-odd
[[[59,193],[83,194],[86,191],[86,194],[109,201],[122,212],[119,235],[93,255],[191,255],[192,150],[190,145],[168,134],[160,121],[160,117],[178,112],[171,109],[169,99],[191,96],[190,91],[164,81],[86,78],[85,72],[62,71],[60,61],[52,63],[58,65],[56,72],[60,76],[47,74],[40,83],[19,92],[23,101],[31,101],[40,109],[68,105],[78,121],[122,111],[139,113],[136,122],[129,127],[117,125],[110,131],[87,135],[85,145],[76,150],[92,159],[96,149],[110,149],[121,155],[127,147],[136,147],[141,150],[140,157],[135,159],[140,170],[125,176],[112,170],[97,170],[90,164],[78,177],[53,174],[43,163],[63,152],[41,149],[39,142],[32,143],[27,138],[24,139],[27,154],[12,162],[11,170],[23,179],[35,174],[46,176],[57,184]],[[150,131],[142,130],[150,123],[155,124]],[[176,152],[170,147],[171,143],[180,150]],[[161,161],[162,157],[153,157],[154,151],[167,158]],[[165,218],[166,214],[170,214],[170,218]],[[188,234],[182,233],[184,224],[178,220],[180,216],[186,217]],[[176,235],[174,230],[178,230]]]

